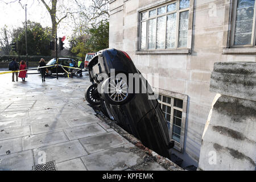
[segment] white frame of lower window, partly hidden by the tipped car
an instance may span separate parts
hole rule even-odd
[[[173,119],[174,119],[174,109],[182,111],[182,119],[181,119],[181,133],[180,133],[180,142],[175,141],[175,146],[174,149],[176,151],[179,151],[181,153],[183,153],[184,151],[184,137],[185,137],[185,123],[187,121],[187,102],[188,102],[188,96],[185,96],[184,94],[179,94],[179,93],[174,93],[174,92],[170,92],[168,90],[163,90],[163,89],[155,89],[155,92],[157,92],[159,94],[159,96],[166,96],[166,97],[170,97],[171,98],[171,105],[167,104],[165,102],[159,101],[159,104],[164,104],[167,106],[171,107],[171,119],[170,119],[170,130],[169,130],[169,137],[170,140],[174,140],[172,139],[172,126],[173,126]],[[180,109],[179,107],[174,107],[174,99],[177,98],[179,100],[183,100],[183,109]],[[162,107],[161,107],[162,109]]]

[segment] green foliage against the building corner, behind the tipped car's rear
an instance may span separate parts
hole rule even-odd
[[[101,22],[98,27],[80,31],[80,34],[73,36],[69,43],[72,48],[71,52],[79,57],[85,57],[89,52],[109,48],[109,22]]]

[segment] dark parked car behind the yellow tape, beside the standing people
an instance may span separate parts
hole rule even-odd
[[[70,59],[70,58],[59,58],[59,64],[60,65],[64,65],[66,67],[69,67],[69,61],[72,60],[72,61],[75,61],[73,59]],[[56,64],[56,58],[53,58],[51,59],[46,65],[49,66],[49,65],[55,65]],[[47,76],[51,76],[52,73],[56,73],[56,67],[48,67],[48,73]],[[58,73],[64,73],[64,74],[67,74],[67,72],[64,71],[64,69],[66,71],[69,70],[69,68],[65,68],[65,67],[58,67],[57,70],[58,70]],[[40,73],[40,70],[38,69],[38,72]]]

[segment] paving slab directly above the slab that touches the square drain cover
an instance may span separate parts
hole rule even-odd
[[[22,138],[23,150],[49,146],[61,142],[67,142],[68,138],[63,131],[53,131],[44,134],[30,135]]]

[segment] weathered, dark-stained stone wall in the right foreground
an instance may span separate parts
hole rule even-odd
[[[255,170],[256,63],[216,63],[213,102],[201,143],[201,170]]]

